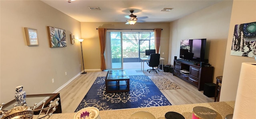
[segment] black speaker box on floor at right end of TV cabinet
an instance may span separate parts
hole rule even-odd
[[[214,97],[215,87],[215,83],[204,83],[204,95],[206,95],[207,97]]]

